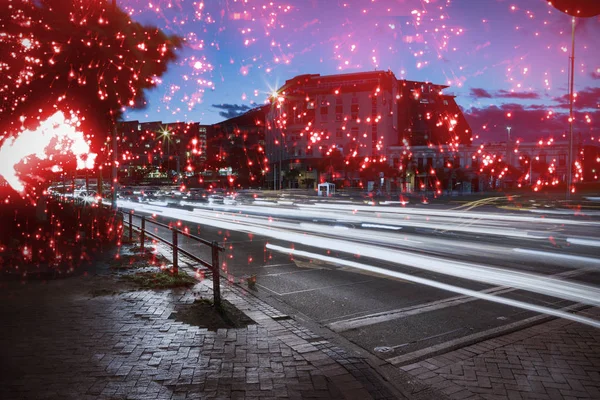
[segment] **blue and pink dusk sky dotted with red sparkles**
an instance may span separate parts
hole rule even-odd
[[[213,124],[287,79],[391,70],[448,85],[482,141],[568,129],[571,17],[545,0],[117,0],[186,39],[176,65],[125,119]],[[600,17],[576,28],[575,132],[600,140]],[[593,138],[593,139],[592,139]]]

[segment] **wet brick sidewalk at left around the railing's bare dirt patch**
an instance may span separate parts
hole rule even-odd
[[[169,318],[210,281],[120,291],[92,275],[0,282],[0,399],[397,398],[364,360],[241,288],[225,298],[256,324],[213,332]]]

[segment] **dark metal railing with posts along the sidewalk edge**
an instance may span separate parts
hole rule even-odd
[[[133,230],[135,229],[135,230],[139,231],[140,247],[141,247],[142,251],[144,251],[144,244],[146,241],[146,236],[151,237],[155,240],[158,240],[158,241],[171,247],[171,250],[173,251],[173,273],[174,274],[177,274],[179,272],[179,253],[185,255],[188,258],[191,258],[192,260],[198,262],[200,265],[207,267],[210,270],[210,272],[212,273],[212,278],[213,278],[213,303],[214,303],[215,307],[221,306],[221,285],[220,285],[221,269],[219,266],[219,252],[225,251],[225,248],[223,246],[219,245],[219,243],[216,241],[211,242],[209,240],[203,239],[196,235],[192,235],[190,233],[184,232],[181,229],[178,229],[176,227],[169,226],[169,225],[163,224],[161,222],[154,221],[152,219],[146,219],[145,216],[135,215],[136,218],[140,218],[140,226],[136,226],[133,224],[134,213],[132,211],[129,211],[129,212],[118,211],[118,212],[123,215],[123,224],[125,224],[125,215],[127,215],[127,217],[128,217],[127,223],[129,225],[128,232],[129,232],[130,242],[133,242]],[[156,226],[170,230],[172,232],[172,240],[168,241],[167,239],[160,237],[159,235],[147,230],[146,222],[149,222]],[[212,255],[211,261],[209,262],[209,261],[203,260],[199,256],[181,248],[179,246],[179,235],[183,235],[186,238],[193,239],[198,243],[202,243],[202,244],[210,247],[211,255]]]

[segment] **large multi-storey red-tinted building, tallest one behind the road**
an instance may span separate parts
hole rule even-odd
[[[386,160],[394,146],[470,144],[470,128],[444,88],[398,80],[391,71],[286,81],[266,112],[269,186],[313,187],[327,176],[340,178],[333,163],[327,165],[332,154],[360,169]],[[350,184],[360,180],[350,175]]]

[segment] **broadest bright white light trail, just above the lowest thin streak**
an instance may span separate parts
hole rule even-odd
[[[135,203],[133,203],[135,205]],[[143,205],[137,209],[143,210]],[[273,220],[261,221],[256,217],[247,215],[216,214],[214,211],[199,211],[191,213],[180,210],[162,210],[163,215],[209,225],[231,231],[248,232],[273,239],[303,244],[325,250],[335,250],[349,254],[358,254],[395,265],[409,266],[430,272],[441,273],[485,284],[513,287],[521,290],[548,295],[565,300],[581,302],[590,305],[600,305],[600,291],[598,288],[575,282],[557,280],[544,275],[511,271],[502,268],[489,267],[481,264],[459,262],[430,255],[415,254],[409,251],[389,249],[384,245],[398,244],[398,238],[384,235],[382,232],[362,231],[356,229],[328,230],[330,237],[323,238],[308,233],[299,234],[290,230],[298,230],[297,224],[277,222]],[[302,231],[324,234],[323,226],[316,224],[300,224]],[[331,237],[331,236],[334,236]],[[357,241],[349,241],[353,239]],[[360,243],[362,241],[363,243]],[[364,242],[379,241],[378,245],[365,244]]]

